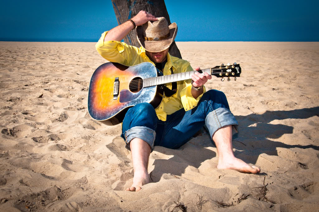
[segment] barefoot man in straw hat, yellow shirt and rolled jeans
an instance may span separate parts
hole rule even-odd
[[[135,26],[140,48],[120,42]],[[104,32],[95,47],[110,62],[127,66],[150,62],[164,75],[193,71],[187,61],[168,53],[176,33],[176,23],[168,26],[165,18],[155,18],[140,11],[132,19]],[[199,67],[196,70],[200,70]],[[224,93],[217,90],[206,92],[204,84],[211,79],[207,73],[196,72],[191,79],[166,85],[158,108],[141,103],[125,114],[121,137],[132,152],[134,168],[133,184],[127,191],[139,191],[141,186],[150,182],[147,166],[154,146],[179,148],[204,124],[217,147],[218,169],[260,172],[258,167],[248,165],[233,154],[232,126],[237,127],[238,123],[229,110]]]

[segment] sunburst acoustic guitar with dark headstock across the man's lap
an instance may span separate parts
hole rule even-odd
[[[148,102],[156,109],[162,102],[163,85],[170,82],[191,79],[197,71],[183,72],[163,76],[152,63],[145,62],[134,66],[118,63],[100,65],[91,77],[88,110],[90,116],[98,121],[110,120],[112,124],[121,123],[130,107]],[[198,71],[225,78],[240,77],[239,64],[222,64],[214,68]]]

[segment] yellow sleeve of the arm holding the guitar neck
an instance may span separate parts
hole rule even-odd
[[[190,66],[190,64],[186,67],[185,72],[190,72],[193,71],[193,68]],[[181,91],[181,101],[184,110],[190,110],[194,107],[197,106],[197,103],[199,100],[202,98],[203,94],[206,92],[206,88],[204,86],[204,92],[203,94],[199,95],[196,99],[193,97],[191,93],[191,88],[192,88],[192,80],[184,80],[183,83],[183,89]]]

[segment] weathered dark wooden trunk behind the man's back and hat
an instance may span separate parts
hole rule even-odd
[[[112,4],[119,25],[134,17],[141,10],[145,10],[155,17],[165,17],[168,25],[171,24],[164,0],[112,0]],[[136,30],[132,30],[124,38],[124,42],[132,46],[140,47],[136,38]],[[169,54],[182,58],[175,42],[170,46]]]

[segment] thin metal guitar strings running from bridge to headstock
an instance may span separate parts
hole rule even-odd
[[[225,69],[225,67],[223,67],[222,69]],[[202,71],[202,72],[208,72],[208,73],[210,73],[211,71],[211,73],[228,73],[228,72],[213,72],[213,70],[220,70],[220,68],[216,68],[216,69],[203,69],[203,70],[200,70],[200,71]],[[198,72],[198,71],[190,71],[190,72],[183,72],[183,73],[177,73],[177,74],[170,74],[170,75],[165,75],[165,76],[158,76],[158,77],[152,77],[152,78],[146,78],[146,79],[139,79],[139,80],[132,80],[132,81],[130,81],[130,82],[120,82],[120,85],[122,84],[122,85],[126,85],[126,84],[131,84],[131,87],[130,88],[137,88],[138,87],[138,84],[140,83],[140,84],[145,84],[145,83],[152,83],[152,82],[155,82],[157,79],[157,81],[163,81],[163,79],[164,79],[164,81],[165,80],[171,80],[172,78],[173,78],[173,80],[174,80],[174,78],[177,78],[178,79],[178,76],[177,75],[181,75],[181,77],[185,77],[186,75],[190,75],[190,74],[193,74],[193,73],[196,73],[196,72]],[[176,77],[175,77],[176,76]],[[232,76],[232,75],[231,75]],[[160,79],[161,78],[161,79]],[[165,79],[165,78],[167,78],[167,79]],[[178,80],[178,81],[181,81],[181,80]],[[165,84],[165,83],[161,83],[161,84]],[[116,88],[116,84],[114,85],[114,89]],[[136,87],[134,87],[134,86],[136,86]]]

